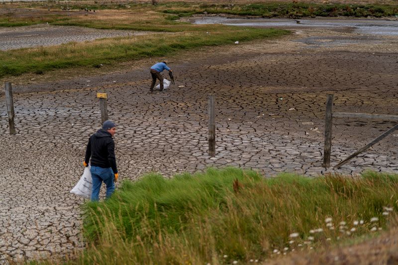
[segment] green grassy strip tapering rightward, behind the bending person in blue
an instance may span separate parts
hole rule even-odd
[[[77,66],[98,67],[116,61],[170,56],[187,49],[278,37],[286,30],[197,26],[195,31],[100,39],[91,42],[0,51],[0,77]],[[62,56],[60,56],[62,54]]]

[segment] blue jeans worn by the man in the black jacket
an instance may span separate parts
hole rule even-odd
[[[100,168],[91,166],[91,177],[93,177],[93,192],[91,193],[91,200],[98,201],[100,198],[100,188],[102,181],[106,185],[106,198],[109,198],[115,190],[113,183],[114,174],[111,168]]]

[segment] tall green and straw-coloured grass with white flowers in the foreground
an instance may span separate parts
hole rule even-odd
[[[264,261],[385,228],[397,210],[397,188],[398,176],[375,173],[264,179],[230,168],[171,180],[149,175],[86,204],[88,248],[70,263]]]

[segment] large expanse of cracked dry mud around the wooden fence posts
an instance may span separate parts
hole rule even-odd
[[[302,41],[316,36],[361,37],[303,29],[279,40],[184,53],[170,58],[176,85],[162,93],[148,93],[154,59],[140,61],[140,70],[16,85],[15,136],[8,135],[0,94],[0,262],[84,246],[83,199],[69,191],[83,172],[88,137],[100,127],[97,91],[108,93],[109,118],[118,125],[120,179],[227,165],[267,177],[324,174],[327,94],[335,95],[335,111],[397,115],[398,53],[391,45],[395,38],[330,47]],[[209,93],[216,97],[215,157],[207,155]],[[394,124],[335,118],[332,165]],[[390,135],[337,172],[398,173],[397,137]]]

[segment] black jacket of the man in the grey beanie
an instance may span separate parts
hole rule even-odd
[[[112,135],[107,131],[100,129],[93,134],[86,149],[85,162],[100,168],[112,168],[113,173],[117,173],[115,143]]]

